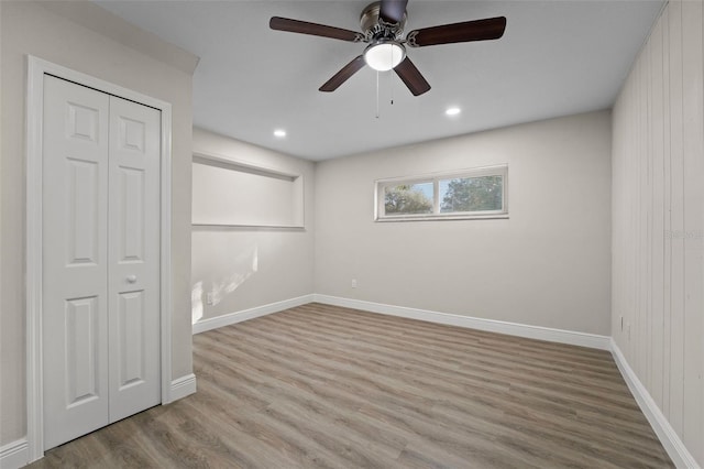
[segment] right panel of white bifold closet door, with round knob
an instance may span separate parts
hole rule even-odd
[[[110,98],[110,422],[161,402],[161,112]]]

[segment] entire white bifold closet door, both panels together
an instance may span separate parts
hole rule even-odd
[[[161,402],[161,112],[51,76],[44,84],[48,449]]]

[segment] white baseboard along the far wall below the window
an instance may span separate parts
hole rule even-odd
[[[575,332],[572,330],[552,329],[549,327],[528,326],[525,324],[483,319],[479,317],[431,312],[427,309],[408,308],[405,306],[384,305],[381,303],[363,302],[361,299],[342,298],[339,296],[315,294],[314,301],[327,305],[362,309],[370,313],[381,313],[410,319],[447,324],[449,326],[466,327],[471,329],[486,330],[490,332],[526,337],[529,339],[569,343],[572,346],[588,347],[601,350],[610,350],[610,338],[607,336],[598,336],[595,334]]]

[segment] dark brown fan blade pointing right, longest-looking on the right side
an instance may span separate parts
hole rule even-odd
[[[463,23],[443,24],[424,28],[408,33],[406,41],[411,47],[426,45],[452,44],[455,42],[487,41],[499,39],[506,30],[506,18],[487,18],[485,20],[465,21]]]

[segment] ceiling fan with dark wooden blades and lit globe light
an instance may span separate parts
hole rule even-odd
[[[407,3],[408,0],[382,0],[367,6],[360,17],[361,33],[280,17],[272,17],[268,24],[277,31],[369,43],[364,53],[334,74],[320,91],[334,91],[366,64],[380,72],[394,69],[414,96],[428,91],[430,84],[406,55],[406,46],[496,40],[506,29],[506,18],[497,17],[414,30],[404,39]]]

